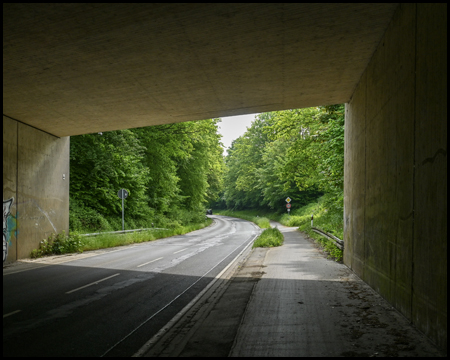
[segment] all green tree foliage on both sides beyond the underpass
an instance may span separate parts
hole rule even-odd
[[[204,219],[205,208],[285,210],[327,195],[343,212],[344,105],[259,114],[228,155],[208,119],[71,137],[70,227]]]

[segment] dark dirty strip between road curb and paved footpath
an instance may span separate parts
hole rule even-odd
[[[228,356],[252,291],[264,274],[266,253],[267,249],[249,248],[229,273],[178,321],[166,326],[161,336],[151,339],[148,349],[144,346],[136,356]]]

